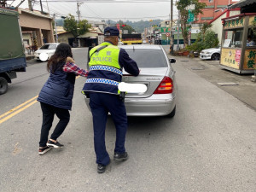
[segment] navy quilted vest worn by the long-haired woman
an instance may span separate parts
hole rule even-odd
[[[63,72],[62,67],[50,73],[38,96],[38,102],[44,102],[55,108],[71,110],[76,75]]]

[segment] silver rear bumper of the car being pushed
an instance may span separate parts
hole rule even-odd
[[[85,96],[87,107],[89,98]],[[155,94],[148,98],[125,98],[127,116],[165,116],[175,108],[176,99],[172,94]]]

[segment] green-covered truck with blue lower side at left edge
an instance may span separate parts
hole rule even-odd
[[[16,72],[26,71],[26,55],[21,38],[19,14],[0,8],[0,95],[8,90],[8,83]]]

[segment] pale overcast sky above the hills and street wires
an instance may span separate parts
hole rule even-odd
[[[15,0],[13,5],[16,6],[20,1]],[[120,3],[122,1],[126,3]],[[68,14],[78,16],[75,0],[47,2],[42,0],[45,12],[48,12],[49,8],[49,13],[57,16]],[[80,0],[79,3],[81,3],[79,6],[81,18],[86,20],[169,20],[171,13],[171,0]],[[175,3],[176,0],[173,0],[173,19],[177,18]],[[20,8],[28,8],[27,0],[20,5]],[[41,9],[39,0],[36,0],[34,9]]]

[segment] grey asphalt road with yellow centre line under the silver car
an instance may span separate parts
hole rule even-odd
[[[86,49],[73,53],[84,67]],[[38,155],[42,112],[34,97],[49,73],[45,62],[30,62],[0,96],[0,117],[34,98],[0,118],[0,191],[255,191],[256,112],[182,61],[173,67],[176,116],[129,118],[125,147],[130,159],[112,161],[107,172],[98,174],[92,118],[80,93],[82,77],[76,81],[71,121],[59,139],[65,148]],[[114,142],[109,117],[111,157]]]

